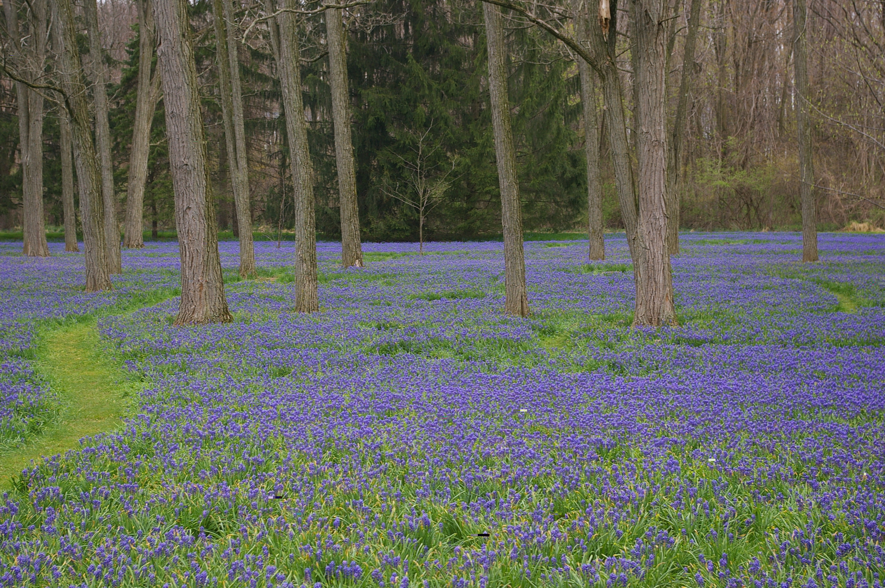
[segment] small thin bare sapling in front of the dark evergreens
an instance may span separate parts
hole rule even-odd
[[[431,120],[423,131],[408,133],[411,139],[410,156],[402,157],[393,153],[405,172],[404,187],[401,188],[398,182],[394,186],[384,187],[388,195],[418,212],[418,251],[421,255],[424,255],[424,223],[427,213],[443,202],[443,196],[451,185],[449,176],[455,170],[453,159],[450,160],[444,153],[440,157],[441,143],[431,141],[433,128],[434,121]],[[441,169],[443,163],[450,165]]]

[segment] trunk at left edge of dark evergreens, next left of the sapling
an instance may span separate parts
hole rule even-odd
[[[350,139],[350,96],[347,83],[347,43],[339,8],[326,9],[326,42],[329,51],[329,88],[335,124],[335,164],[338,168],[338,200],[341,214],[341,261],[344,267],[363,266],[359,241],[357,174]]]

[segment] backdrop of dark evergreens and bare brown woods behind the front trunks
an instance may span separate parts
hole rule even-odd
[[[670,3],[667,83],[673,125],[681,80],[687,0]],[[294,223],[293,188],[278,76],[268,44],[238,7],[237,36],[250,168],[250,206],[259,230],[275,236]],[[317,4],[319,5],[319,4]],[[702,3],[681,149],[681,227],[796,229],[801,225],[793,87],[792,16],[783,0]],[[219,228],[236,236],[211,3],[190,4],[197,72]],[[127,194],[135,118],[138,26],[134,3],[98,4],[111,101],[118,218]],[[851,221],[885,225],[885,2],[812,0],[807,34],[812,145],[820,230]],[[630,19],[618,19],[619,68],[631,115]],[[255,23],[258,24],[258,23]],[[416,211],[396,198],[415,164],[436,182],[425,238],[475,239],[500,233],[481,3],[376,0],[351,8],[347,64],[360,229],[366,241],[415,241]],[[587,174],[581,92],[574,56],[516,19],[504,22],[520,198],[528,231],[586,231]],[[317,230],[338,239],[340,218],[323,13],[304,19],[302,79],[314,164]],[[247,34],[248,33],[248,34]],[[245,35],[245,37],[244,37]],[[81,35],[81,52],[89,42]],[[601,107],[601,96],[598,96]],[[20,225],[19,124],[12,80],[0,78],[0,229]],[[632,115],[631,115],[632,116]],[[621,228],[608,135],[598,117],[604,225]],[[632,123],[632,118],[629,119]],[[173,223],[173,187],[162,100],[151,127],[144,195],[154,236]],[[628,128],[631,141],[634,134]],[[58,116],[43,134],[44,202],[62,224]]]

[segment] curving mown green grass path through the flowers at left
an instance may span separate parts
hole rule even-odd
[[[36,363],[58,394],[61,410],[39,436],[0,456],[0,486],[9,486],[12,476],[32,460],[76,449],[83,437],[112,431],[122,423],[132,385],[124,381],[116,363],[100,354],[95,320],[49,332]]]

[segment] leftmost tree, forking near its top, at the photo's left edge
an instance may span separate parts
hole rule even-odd
[[[22,167],[22,252],[50,255],[43,225],[43,95],[27,81],[42,78],[46,60],[46,0],[28,4],[27,19],[19,23],[19,6],[4,3],[6,29],[11,37],[12,62],[23,80],[16,82],[19,107],[19,158]],[[20,25],[25,25],[25,31]]]

